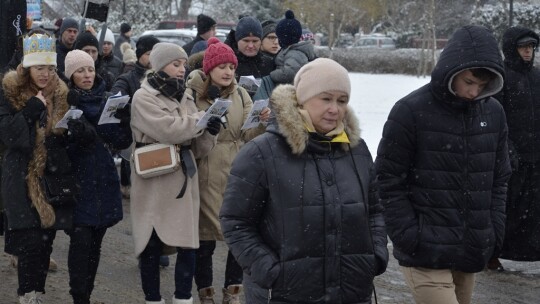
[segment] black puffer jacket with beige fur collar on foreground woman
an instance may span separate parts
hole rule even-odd
[[[269,126],[233,162],[225,240],[244,272],[271,289],[269,303],[369,303],[388,263],[371,155],[352,109],[350,146],[321,143],[298,123],[294,96],[291,85],[276,88],[279,130]]]

